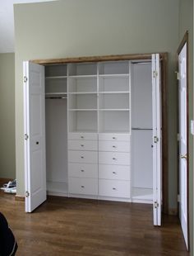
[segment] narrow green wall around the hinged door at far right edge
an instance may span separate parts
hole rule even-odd
[[[189,46],[189,122],[193,120],[193,1],[180,0],[179,10],[179,43],[188,31]],[[193,135],[189,135],[189,227],[190,241],[193,241]],[[193,243],[191,242],[191,255]]]

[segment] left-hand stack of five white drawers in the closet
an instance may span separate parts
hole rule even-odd
[[[69,193],[98,195],[98,135],[69,133]]]

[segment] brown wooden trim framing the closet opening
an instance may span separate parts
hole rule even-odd
[[[135,55],[104,55],[90,57],[72,57],[64,59],[32,59],[35,64],[68,64],[83,62],[102,62],[117,60],[151,60],[151,54],[135,54]],[[169,142],[168,142],[168,53],[159,53],[161,64],[161,107],[162,107],[162,211],[169,214]]]

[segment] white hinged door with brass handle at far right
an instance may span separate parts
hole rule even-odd
[[[187,43],[178,55],[179,73],[179,217],[187,240]]]

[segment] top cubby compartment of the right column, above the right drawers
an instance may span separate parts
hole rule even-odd
[[[121,75],[128,73],[128,61],[107,61],[99,63],[99,75]]]

